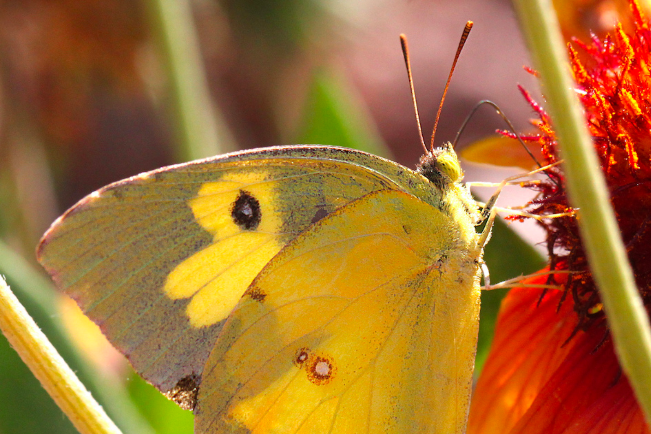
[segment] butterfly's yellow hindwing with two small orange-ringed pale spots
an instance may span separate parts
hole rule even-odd
[[[310,226],[230,314],[196,432],[462,432],[478,318],[472,227],[391,189]]]

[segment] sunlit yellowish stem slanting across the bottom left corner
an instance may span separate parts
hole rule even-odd
[[[81,434],[120,434],[0,277],[0,330]]]

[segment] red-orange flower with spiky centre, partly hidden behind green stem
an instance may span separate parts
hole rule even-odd
[[[574,41],[570,59],[577,93],[637,286],[651,306],[651,31],[631,0],[634,31],[618,25],[589,44]],[[580,54],[579,54],[580,53]],[[557,161],[549,118],[536,126],[546,163]],[[530,185],[538,197],[529,212],[572,210],[561,169]],[[519,217],[516,217],[519,218]],[[622,373],[607,317],[581,245],[575,217],[546,219],[549,276],[516,288],[503,302],[491,354],[473,396],[469,433],[651,433]]]

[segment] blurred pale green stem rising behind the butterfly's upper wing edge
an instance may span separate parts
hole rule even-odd
[[[232,135],[210,100],[189,1],[151,0],[149,4],[171,87],[176,158],[189,161],[234,150]]]

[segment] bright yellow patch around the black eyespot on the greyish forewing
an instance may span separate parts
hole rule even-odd
[[[234,172],[202,185],[189,200],[197,222],[213,236],[213,244],[177,265],[165,282],[172,299],[192,297],[186,315],[193,327],[227,318],[253,278],[280,251],[283,222],[274,208],[278,181],[261,171]],[[241,193],[260,204],[260,223],[245,230],[232,210]]]

